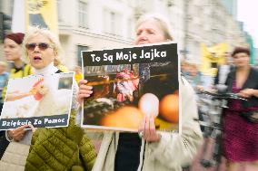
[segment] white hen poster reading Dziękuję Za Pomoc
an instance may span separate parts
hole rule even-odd
[[[66,127],[72,106],[74,72],[10,79],[0,129],[33,125]]]

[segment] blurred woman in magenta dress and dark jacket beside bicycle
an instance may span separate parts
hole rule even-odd
[[[223,111],[223,155],[229,171],[258,170],[258,71],[250,65],[250,51],[236,47],[234,69],[225,85],[229,92],[247,100],[229,100]],[[256,121],[252,113],[256,112]]]

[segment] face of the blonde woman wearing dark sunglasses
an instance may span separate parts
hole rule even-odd
[[[43,69],[55,60],[55,51],[49,39],[42,34],[35,34],[26,43],[26,52],[30,64],[35,69]]]

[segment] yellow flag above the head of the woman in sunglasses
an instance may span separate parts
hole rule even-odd
[[[25,25],[38,25],[58,35],[58,21],[55,0],[25,0]]]

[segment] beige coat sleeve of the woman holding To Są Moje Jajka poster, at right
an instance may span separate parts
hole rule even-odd
[[[180,82],[182,96],[182,135],[162,133],[158,143],[147,143],[146,151],[153,160],[158,160],[164,166],[188,166],[203,142],[203,136],[198,122],[197,105],[193,88],[184,79]]]

